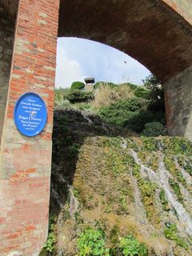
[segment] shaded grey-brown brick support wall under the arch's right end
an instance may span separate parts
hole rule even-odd
[[[164,85],[168,133],[192,140],[192,66]]]

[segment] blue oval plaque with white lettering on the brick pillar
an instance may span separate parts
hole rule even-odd
[[[14,123],[20,133],[32,137],[46,126],[46,104],[38,94],[23,94],[14,107]]]

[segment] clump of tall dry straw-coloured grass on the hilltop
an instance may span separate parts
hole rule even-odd
[[[130,86],[122,84],[112,87],[106,83],[95,90],[93,106],[95,109],[98,109],[101,106],[108,106],[113,102],[118,102],[120,99],[133,97],[134,90]]]

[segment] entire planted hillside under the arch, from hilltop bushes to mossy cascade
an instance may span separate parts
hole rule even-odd
[[[188,255],[188,218],[184,212],[181,221],[174,201],[190,216],[184,170],[192,175],[192,143],[164,136],[162,89],[153,79],[99,82],[89,99],[80,88],[55,91],[50,207],[59,222],[45,255]]]

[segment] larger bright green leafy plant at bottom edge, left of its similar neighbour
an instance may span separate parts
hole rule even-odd
[[[105,234],[102,230],[83,230],[78,236],[78,256],[108,256],[109,249],[105,245]]]

